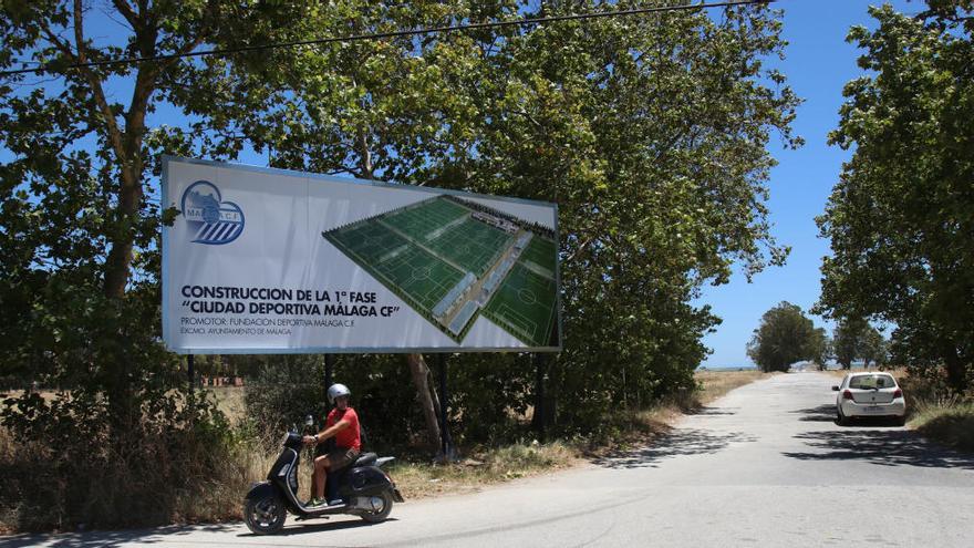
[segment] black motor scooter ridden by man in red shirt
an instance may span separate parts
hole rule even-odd
[[[309,416],[309,422],[311,417]],[[403,503],[403,495],[382,467],[395,457],[363,453],[354,463],[329,471],[328,500],[338,504],[305,506],[298,499],[298,464],[301,462],[303,436],[297,428],[284,434],[283,448],[266,482],[253,484],[244,500],[244,521],[255,535],[273,535],[284,527],[288,513],[298,520],[328,518],[336,514],[359,516],[365,521],[384,521],[393,503]]]

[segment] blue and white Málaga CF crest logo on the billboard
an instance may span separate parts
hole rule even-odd
[[[220,246],[244,232],[244,210],[232,201],[224,201],[219,188],[208,180],[197,180],[186,188],[182,209],[194,244]]]

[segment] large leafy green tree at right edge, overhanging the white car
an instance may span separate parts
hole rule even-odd
[[[817,310],[895,325],[898,360],[974,370],[974,44],[968,0],[911,18],[871,8],[850,30],[869,71],[846,85],[829,142],[854,149],[817,221],[830,238]]]

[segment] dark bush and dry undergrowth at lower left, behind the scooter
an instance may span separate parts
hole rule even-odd
[[[159,525],[238,511],[237,441],[208,401],[175,392],[146,402],[134,430],[110,427],[103,399],[84,393],[4,402],[0,527],[7,530]]]

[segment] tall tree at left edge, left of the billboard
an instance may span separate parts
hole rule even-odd
[[[99,9],[82,0],[0,9],[0,68],[41,68],[0,81],[0,146],[9,154],[0,164],[0,302],[17,314],[0,327],[0,363],[90,387],[121,442],[143,396],[162,393],[147,386],[176,370],[156,335],[160,209],[152,177],[174,142],[147,120],[185,83],[190,62],[70,65],[190,52],[236,8],[116,1],[115,24],[127,33],[108,42],[92,30]]]

